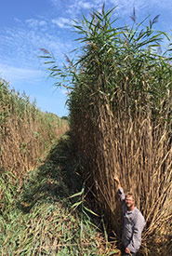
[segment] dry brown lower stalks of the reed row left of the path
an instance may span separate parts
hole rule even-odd
[[[32,110],[26,109],[20,118],[12,106],[7,106],[7,110],[8,116],[0,128],[0,166],[22,182],[27,171],[35,168],[38,158],[44,156],[47,146],[52,143],[51,137],[57,140],[68,129],[68,124],[60,122],[58,127],[55,124],[54,128],[47,128],[39,112],[33,117]],[[5,109],[1,112],[4,114]]]

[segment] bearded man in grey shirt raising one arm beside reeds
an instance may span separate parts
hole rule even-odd
[[[132,193],[125,195],[118,177],[114,177],[117,182],[118,194],[120,196],[123,209],[124,225],[122,232],[123,256],[136,255],[141,245],[141,233],[145,225],[145,220],[139,209],[135,206],[135,196]]]

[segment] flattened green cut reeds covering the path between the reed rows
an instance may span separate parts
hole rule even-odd
[[[10,182],[10,173],[2,175],[1,255],[103,255],[89,212],[74,210],[77,201],[68,198],[81,189],[72,148],[70,136],[63,136],[22,186]]]

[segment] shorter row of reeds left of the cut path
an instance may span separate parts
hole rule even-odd
[[[68,128],[68,123],[43,113],[24,93],[0,80],[0,168],[23,178],[39,157]]]

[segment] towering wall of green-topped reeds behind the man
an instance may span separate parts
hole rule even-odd
[[[121,211],[113,176],[133,191],[146,219],[142,255],[172,253],[172,66],[170,40],[153,20],[115,27],[113,9],[92,11],[74,28],[81,56],[61,72],[52,58],[51,75],[71,88],[71,128],[85,163],[83,175],[97,209],[119,240]],[[62,74],[62,75],[61,75]],[[61,82],[70,75],[69,85]],[[94,205],[94,209],[96,209]]]

